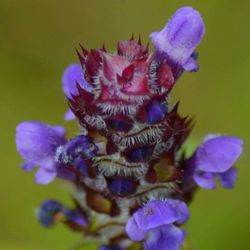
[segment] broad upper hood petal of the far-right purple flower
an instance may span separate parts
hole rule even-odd
[[[233,136],[207,139],[195,153],[197,170],[222,173],[233,166],[242,152],[242,140]]]

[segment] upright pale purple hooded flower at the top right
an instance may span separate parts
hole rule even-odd
[[[175,64],[187,71],[198,70],[194,51],[205,33],[205,25],[197,10],[178,9],[160,32],[150,35],[155,48],[164,52]]]

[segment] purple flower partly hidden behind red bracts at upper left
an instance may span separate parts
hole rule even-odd
[[[78,64],[71,64],[65,69],[62,77],[62,83],[63,92],[68,99],[71,99],[73,95],[79,94],[77,84],[79,84],[83,89],[91,91],[91,86],[85,80],[82,68]],[[64,115],[64,119],[66,121],[73,120],[74,118],[75,115],[70,109]]]

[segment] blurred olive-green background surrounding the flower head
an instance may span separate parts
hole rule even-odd
[[[234,190],[200,191],[191,205],[188,238],[197,250],[250,249],[250,1],[244,0],[0,0],[0,249],[63,250],[80,235],[63,226],[43,229],[34,208],[46,198],[70,204],[61,182],[34,183],[20,170],[15,127],[24,120],[63,124],[73,136],[77,126],[63,121],[63,69],[77,61],[74,47],[159,30],[179,7],[197,8],[206,23],[197,74],[185,73],[173,91],[181,113],[194,115],[189,147],[209,132],[245,140]]]

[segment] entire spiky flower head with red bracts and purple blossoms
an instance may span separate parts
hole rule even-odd
[[[37,168],[36,183],[56,177],[75,187],[74,208],[47,200],[37,210],[45,227],[58,222],[100,242],[99,250],[178,250],[182,225],[197,188],[233,188],[242,140],[208,135],[189,158],[181,146],[192,121],[181,118],[168,96],[184,71],[197,71],[196,47],[205,33],[198,11],[177,10],[150,35],[154,52],[129,41],[117,54],[105,48],[78,52],[80,64],[63,74],[63,91],[79,135],[30,121],[16,128],[22,169]]]

